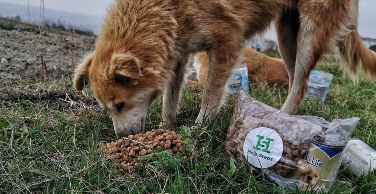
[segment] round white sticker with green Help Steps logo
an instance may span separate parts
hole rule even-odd
[[[244,157],[256,168],[269,168],[282,156],[283,143],[279,134],[267,127],[255,128],[247,134]]]

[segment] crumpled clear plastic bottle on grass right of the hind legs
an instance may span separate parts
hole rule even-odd
[[[306,97],[319,100],[320,104],[325,101],[329,86],[332,82],[333,75],[331,73],[313,70],[309,75],[308,92]]]

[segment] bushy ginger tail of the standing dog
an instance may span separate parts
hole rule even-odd
[[[353,78],[357,78],[358,68],[361,66],[365,73],[376,79],[376,53],[365,47],[356,25],[350,27],[350,30],[338,44],[341,62],[349,69]]]

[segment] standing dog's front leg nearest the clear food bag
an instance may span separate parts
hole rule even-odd
[[[206,119],[209,122],[212,121],[220,111],[226,98],[224,87],[227,79],[233,67],[241,62],[241,57],[239,57],[240,53],[243,53],[241,48],[239,45],[226,45],[213,49],[208,53],[210,60],[209,72],[196,124],[202,124]]]

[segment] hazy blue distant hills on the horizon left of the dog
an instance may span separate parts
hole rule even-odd
[[[0,17],[15,17],[17,15],[21,17],[23,22],[29,22],[27,5],[0,2]],[[38,24],[39,7],[30,6],[30,21]],[[45,8],[44,21],[49,24],[61,23],[64,26],[72,25],[77,29],[91,30],[97,34],[100,23],[102,22],[102,17],[99,15],[76,14]]]

